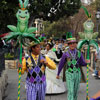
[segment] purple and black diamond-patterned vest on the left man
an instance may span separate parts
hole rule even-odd
[[[31,66],[27,62],[27,59],[29,57],[30,57],[31,62],[32,62]],[[29,57],[26,58],[26,66],[28,69],[28,74],[27,74],[26,80],[31,82],[31,83],[42,83],[43,81],[46,80],[46,77],[45,77],[45,71],[43,72],[41,70],[41,67],[42,66],[46,67],[46,66],[43,65],[42,63],[40,63],[40,60],[45,59],[45,58],[42,55],[39,55],[38,62],[36,64],[33,57],[32,56],[29,56]]]

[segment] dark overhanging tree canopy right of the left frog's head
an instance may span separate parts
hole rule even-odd
[[[43,17],[44,20],[58,20],[67,15],[74,15],[80,8],[80,0],[30,0],[32,16]]]

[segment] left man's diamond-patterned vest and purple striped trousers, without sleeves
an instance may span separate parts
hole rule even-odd
[[[31,67],[29,67],[30,63],[27,61],[29,57],[32,62]],[[42,55],[39,55],[36,64],[33,57],[29,57],[26,58],[26,67],[28,69],[26,78],[27,100],[45,100],[46,77],[45,72],[41,70],[41,67],[45,65],[40,63],[40,60],[44,58]]]

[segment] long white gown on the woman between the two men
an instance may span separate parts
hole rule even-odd
[[[45,50],[45,54],[53,61],[59,62],[60,59],[57,59],[57,56],[55,52],[50,49],[49,51]],[[58,63],[56,63],[56,66],[58,67]],[[63,79],[56,79],[58,68],[55,70],[51,70],[49,68],[46,68],[46,94],[58,94],[58,93],[64,93],[66,91],[65,83],[63,82]],[[63,73],[60,74],[61,77],[63,77]]]

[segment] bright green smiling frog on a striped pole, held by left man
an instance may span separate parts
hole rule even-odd
[[[20,8],[16,14],[17,17],[17,26],[8,25],[7,27],[12,31],[7,35],[6,42],[11,39],[16,39],[17,44],[20,46],[20,65],[22,64],[22,45],[28,46],[25,43],[25,39],[31,39],[39,43],[39,41],[35,38],[33,32],[36,31],[35,27],[28,28],[28,19],[30,17],[28,10],[26,7],[28,5],[29,0],[19,0]],[[21,81],[21,68],[19,68],[19,80],[18,80],[18,99],[20,100],[20,81]]]

